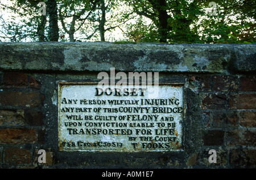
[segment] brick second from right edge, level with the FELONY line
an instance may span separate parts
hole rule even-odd
[[[235,127],[237,125],[237,112],[236,111],[221,111],[213,112],[213,127]]]

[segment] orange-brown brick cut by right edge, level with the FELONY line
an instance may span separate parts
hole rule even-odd
[[[240,112],[240,125],[243,127],[256,127],[256,112]]]

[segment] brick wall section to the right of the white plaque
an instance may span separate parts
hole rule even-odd
[[[189,165],[200,164],[202,154],[216,149],[217,163],[226,168],[255,167],[256,78],[251,75],[193,76],[206,117],[202,152]],[[205,159],[205,162],[207,160]],[[207,164],[207,163],[206,163]]]

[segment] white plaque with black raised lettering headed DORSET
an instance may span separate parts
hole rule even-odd
[[[183,85],[100,89],[97,83],[59,82],[59,150],[181,151]]]

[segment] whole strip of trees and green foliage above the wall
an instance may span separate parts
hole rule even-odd
[[[11,12],[11,16],[0,15],[0,40],[49,41],[52,35],[63,34],[59,41],[256,42],[254,0],[214,0],[216,7],[209,6],[212,0],[44,0],[47,5],[56,1],[56,18],[51,6],[46,16],[38,14],[41,1],[1,3],[2,14]],[[212,11],[216,14],[208,13]],[[52,19],[61,26],[52,26]],[[123,37],[115,35],[118,29]]]

